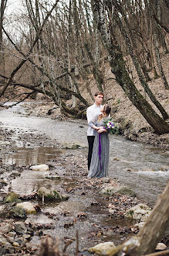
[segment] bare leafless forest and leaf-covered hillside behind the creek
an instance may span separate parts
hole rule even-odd
[[[9,3],[1,2],[2,107],[47,97],[62,115],[86,118],[100,90],[120,133],[167,141],[167,0],[24,0],[8,14]]]

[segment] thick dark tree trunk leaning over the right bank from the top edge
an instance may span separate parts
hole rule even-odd
[[[126,93],[130,101],[133,102],[134,106],[136,106],[144,118],[147,119],[150,126],[154,128],[156,133],[169,133],[169,125],[157,114],[157,112],[154,111],[150,104],[137,90],[134,82],[130,79],[123,61],[123,55],[120,51],[120,47],[117,45],[115,40],[111,40],[110,33],[107,33],[104,1],[100,0],[95,2],[91,0],[91,3],[97,27],[108,52],[111,71],[115,75],[117,82],[121,88],[123,88],[123,91]]]

